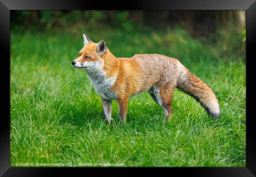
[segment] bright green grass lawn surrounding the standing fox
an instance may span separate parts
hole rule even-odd
[[[130,98],[126,124],[113,101],[105,124],[100,97],[71,61],[82,33],[11,33],[12,163],[124,163],[125,166],[245,166],[245,59],[218,59],[213,46],[185,31],[87,31],[117,57],[160,53],[178,58],[215,92],[211,119],[193,98],[173,96],[171,122],[148,93]]]

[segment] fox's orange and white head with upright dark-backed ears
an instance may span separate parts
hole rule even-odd
[[[104,55],[107,52],[105,41],[94,43],[83,34],[83,48],[78,54],[78,58],[72,61],[72,65],[76,68],[88,71],[102,70],[104,67]]]

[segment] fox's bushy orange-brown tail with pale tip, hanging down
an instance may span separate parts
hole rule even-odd
[[[219,117],[221,111],[214,92],[201,79],[191,74],[185,66],[182,68],[177,88],[193,96],[213,118]]]

